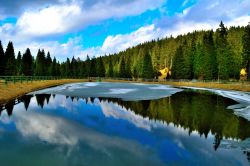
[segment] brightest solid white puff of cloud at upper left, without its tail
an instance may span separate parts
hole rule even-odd
[[[57,34],[72,28],[72,18],[78,18],[77,5],[52,6],[38,12],[25,12],[17,21],[17,30],[24,35],[43,36]]]

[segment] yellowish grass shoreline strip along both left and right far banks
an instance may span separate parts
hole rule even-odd
[[[103,79],[103,82],[126,82],[126,83],[144,83],[144,84],[163,84],[171,85],[174,87],[196,87],[196,88],[208,88],[208,89],[220,89],[220,90],[234,90],[241,92],[250,92],[249,83],[217,83],[217,82],[144,82],[144,81],[125,81],[125,80],[113,80]],[[8,85],[0,84],[0,104],[5,104],[8,101],[18,98],[22,95],[30,93],[32,91],[45,89],[53,86],[58,86],[66,83],[79,83],[89,82],[87,79],[62,79],[62,80],[44,80],[33,81],[26,83],[9,83]],[[92,82],[95,82],[92,80]]]

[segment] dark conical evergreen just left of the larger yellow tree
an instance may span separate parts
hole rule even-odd
[[[142,78],[152,78],[153,75],[154,75],[154,70],[152,66],[151,56],[147,52],[143,58]]]

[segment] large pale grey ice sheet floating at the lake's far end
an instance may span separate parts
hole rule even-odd
[[[149,87],[157,87],[149,89]],[[162,90],[164,87],[165,90]],[[168,87],[166,89],[166,87]],[[35,91],[30,94],[61,94],[74,97],[107,97],[119,98],[126,101],[153,100],[169,97],[182,91],[179,88],[171,88],[167,85],[144,84],[136,85],[131,83],[77,83],[65,84],[58,87]]]

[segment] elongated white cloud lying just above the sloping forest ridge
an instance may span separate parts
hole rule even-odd
[[[101,47],[93,47],[82,51],[82,55],[89,54],[92,56],[98,56],[116,53],[140,43],[151,41],[153,39],[163,38],[170,35],[177,36],[192,32],[194,30],[209,30],[212,28],[213,25],[209,23],[195,22],[179,22],[175,26],[167,29],[157,28],[155,24],[151,24],[141,27],[138,30],[128,34],[108,36]]]

